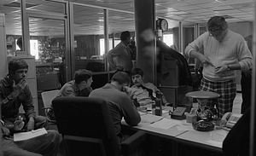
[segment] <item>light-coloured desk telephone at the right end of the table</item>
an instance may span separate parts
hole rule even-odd
[[[241,118],[241,116],[242,114],[239,113],[225,113],[224,116],[221,118],[221,124],[224,124],[224,126],[222,125],[222,127],[231,129],[237,123],[239,118]]]

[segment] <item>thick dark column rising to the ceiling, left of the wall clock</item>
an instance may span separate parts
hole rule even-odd
[[[154,32],[155,12],[154,0],[134,0],[135,8],[135,32],[137,44],[137,67],[144,71],[144,81],[156,83],[155,80],[155,50],[154,37],[150,38],[150,32]],[[152,33],[154,36],[154,33]],[[148,36],[149,37],[145,37]],[[144,38],[143,38],[144,36]],[[146,40],[145,40],[146,38]],[[148,39],[147,39],[148,38]]]

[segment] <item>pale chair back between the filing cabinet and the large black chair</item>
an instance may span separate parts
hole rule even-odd
[[[44,115],[49,121],[49,123],[54,123],[55,124],[55,118],[53,118],[51,113],[53,113],[51,105],[51,101],[58,95],[60,90],[50,90],[50,91],[44,91],[41,93],[42,95],[42,100],[44,103],[44,107],[42,109],[44,110]]]

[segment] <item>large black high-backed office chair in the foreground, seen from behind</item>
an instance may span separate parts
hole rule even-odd
[[[126,156],[146,139],[145,131],[137,131],[121,142],[120,151],[108,104],[102,99],[57,97],[52,104],[69,156]]]

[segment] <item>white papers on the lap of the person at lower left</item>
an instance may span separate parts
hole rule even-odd
[[[42,136],[44,134],[47,134],[47,130],[45,130],[44,128],[38,129],[38,130],[27,131],[27,132],[15,133],[14,141],[15,142],[25,141],[25,140],[32,139],[37,136]]]

